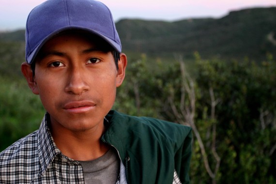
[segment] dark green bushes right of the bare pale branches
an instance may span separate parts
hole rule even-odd
[[[220,182],[275,182],[272,170],[276,165],[271,161],[276,138],[271,134],[276,132],[276,62],[263,61],[258,66],[249,61],[227,64],[199,60],[197,68],[200,104],[206,104],[210,86],[220,99],[216,107],[217,149],[222,155]]]

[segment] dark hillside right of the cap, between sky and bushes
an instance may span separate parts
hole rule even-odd
[[[124,19],[117,23],[123,49],[158,56],[194,51],[204,57],[261,59],[276,54],[268,37],[276,32],[276,7],[230,12],[220,19],[187,19],[177,22]],[[274,43],[274,44],[273,44]]]

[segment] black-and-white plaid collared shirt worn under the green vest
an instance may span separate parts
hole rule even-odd
[[[47,119],[0,153],[0,184],[84,184],[81,165],[56,147]],[[116,184],[122,182],[119,176]],[[176,172],[172,184],[181,184]]]

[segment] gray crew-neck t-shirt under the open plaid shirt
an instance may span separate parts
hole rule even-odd
[[[95,160],[79,163],[85,184],[115,184],[120,174],[120,158],[114,148]]]

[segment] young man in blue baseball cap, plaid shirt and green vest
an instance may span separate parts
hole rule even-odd
[[[39,130],[0,153],[1,184],[189,183],[189,127],[110,110],[127,59],[104,4],[34,8],[26,61],[22,73],[46,114]]]

